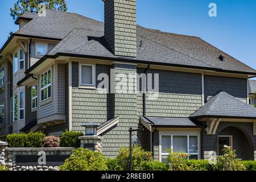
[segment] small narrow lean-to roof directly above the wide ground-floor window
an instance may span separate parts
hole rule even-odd
[[[142,117],[149,125],[155,127],[204,127],[203,123],[189,118]]]

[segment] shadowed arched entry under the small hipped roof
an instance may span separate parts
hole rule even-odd
[[[218,152],[220,152],[224,144],[232,146],[236,150],[238,158],[242,160],[254,159],[253,142],[237,127],[229,126],[218,133]]]

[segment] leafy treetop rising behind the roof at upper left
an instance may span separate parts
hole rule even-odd
[[[11,8],[11,16],[16,20],[25,12],[38,13],[38,5],[44,3],[46,9],[67,11],[67,4],[65,0],[18,0],[14,7]]]

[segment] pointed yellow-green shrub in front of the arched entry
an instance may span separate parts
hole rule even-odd
[[[217,156],[214,169],[217,171],[245,171],[243,163],[237,159],[236,152],[232,147],[224,146],[223,155]]]

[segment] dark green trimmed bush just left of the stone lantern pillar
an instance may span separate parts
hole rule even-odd
[[[82,136],[81,132],[65,131],[60,138],[60,147],[80,147],[80,140],[78,137]]]

